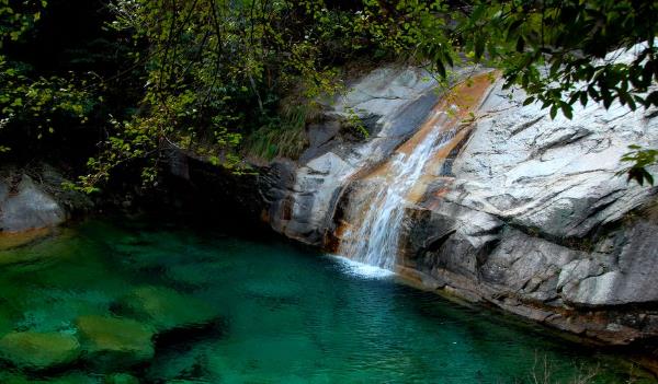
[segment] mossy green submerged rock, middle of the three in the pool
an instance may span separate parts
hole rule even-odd
[[[91,362],[112,369],[151,360],[154,329],[128,318],[80,316],[76,325]]]

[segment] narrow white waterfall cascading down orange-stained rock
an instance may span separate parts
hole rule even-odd
[[[356,208],[363,212],[358,222],[344,228],[338,247],[340,255],[383,269],[395,269],[405,208],[415,202],[413,189],[427,174],[428,164],[465,137],[463,132],[458,133],[458,123],[486,94],[490,86],[486,79],[478,75],[472,81],[476,83],[473,90],[468,90],[473,84],[462,84],[453,91],[452,97],[444,97],[419,132],[394,153],[384,173],[377,172],[376,177],[384,179],[367,184],[372,187],[371,197]],[[455,103],[458,105],[451,100],[460,100]]]

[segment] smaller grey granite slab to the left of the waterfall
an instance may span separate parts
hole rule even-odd
[[[310,147],[299,161],[274,163],[264,176],[272,228],[322,244],[347,182],[385,161],[436,103],[436,83],[430,79],[420,69],[385,67],[353,81],[348,94],[327,103],[324,121],[308,127]],[[367,140],[355,140],[345,129],[352,114],[368,130]]]

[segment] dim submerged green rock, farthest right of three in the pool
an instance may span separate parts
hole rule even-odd
[[[159,333],[197,328],[217,319],[217,311],[207,303],[172,289],[140,287],[120,300],[114,311],[149,323]]]

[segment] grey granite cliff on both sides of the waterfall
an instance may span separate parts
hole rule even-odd
[[[373,191],[396,183],[390,159],[427,135],[436,93],[423,77],[386,68],[355,81],[308,128],[302,160],[269,168],[274,230],[340,248]],[[658,147],[658,113],[590,104],[552,120],[500,83],[481,96],[405,196],[397,271],[606,342],[658,336],[658,190],[616,175],[627,146]],[[365,142],[340,135],[348,109],[373,132]]]

